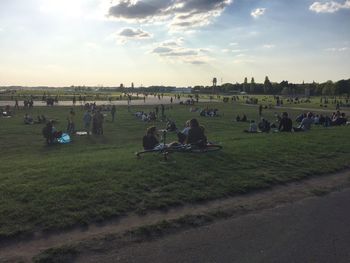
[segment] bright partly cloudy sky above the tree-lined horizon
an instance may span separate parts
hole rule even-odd
[[[0,0],[0,86],[350,78],[350,0]]]

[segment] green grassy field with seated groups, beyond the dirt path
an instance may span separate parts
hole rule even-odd
[[[232,120],[243,113],[256,119],[256,108],[231,103],[209,106],[220,109],[223,116],[200,118],[180,105],[166,113],[179,127],[197,117],[209,140],[224,149],[201,155],[177,153],[168,163],[157,154],[135,158],[150,124],[136,119],[126,107],[117,109],[115,123],[105,123],[104,136],[73,136],[71,144],[52,147],[44,144],[42,125],[23,124],[24,111],[0,119],[0,238],[246,193],[350,165],[349,127],[245,134],[248,123]],[[264,114],[272,121],[275,111]],[[56,126],[64,130],[68,112],[69,108],[54,107],[30,113],[59,119]],[[300,113],[289,112],[293,117]],[[76,113],[81,128],[83,110],[77,107]],[[156,125],[164,128],[164,123]]]

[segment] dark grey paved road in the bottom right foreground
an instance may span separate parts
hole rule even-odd
[[[350,189],[84,262],[350,262]]]

